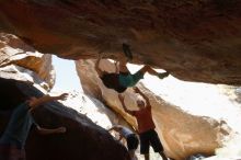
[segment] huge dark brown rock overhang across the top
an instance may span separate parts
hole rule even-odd
[[[5,0],[0,31],[43,53],[149,64],[188,81],[241,84],[240,0]]]

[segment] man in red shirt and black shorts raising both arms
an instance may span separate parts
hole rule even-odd
[[[138,88],[135,87],[134,91],[139,93],[146,101],[145,105],[144,100],[137,100],[137,105],[139,107],[138,111],[128,110],[124,103],[124,96],[122,94],[118,94],[118,99],[123,105],[124,111],[135,116],[137,119],[138,135],[140,138],[140,153],[145,155],[145,160],[149,160],[149,147],[151,145],[154,152],[159,152],[163,160],[168,160],[167,156],[164,155],[162,144],[158,137],[157,132],[154,130],[156,126],[151,115],[150,102]]]

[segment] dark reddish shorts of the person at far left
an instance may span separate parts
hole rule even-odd
[[[0,145],[0,160],[25,160],[25,150],[13,145]]]

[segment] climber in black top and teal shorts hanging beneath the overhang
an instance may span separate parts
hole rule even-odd
[[[95,64],[95,70],[101,78],[102,82],[105,84],[106,88],[114,89],[118,93],[124,92],[127,88],[136,85],[136,83],[144,78],[146,72],[150,75],[157,76],[160,79],[163,79],[169,76],[169,72],[159,73],[153,70],[150,66],[144,66],[139,71],[131,75],[126,67],[127,62],[133,59],[133,55],[130,53],[129,46],[123,44],[123,50],[125,53],[125,58],[119,60],[119,65],[115,62],[115,72],[110,73],[106,71],[101,70],[100,61],[103,54],[99,55],[99,58]]]

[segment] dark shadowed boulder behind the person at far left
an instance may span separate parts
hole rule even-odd
[[[12,75],[18,77],[14,72]],[[43,92],[36,88],[36,83],[33,85],[24,79],[16,81],[12,79],[13,77],[0,78],[0,135],[12,108],[27,96],[43,95]],[[66,126],[67,133],[43,136],[33,129],[25,147],[27,160],[129,160],[125,147],[116,142],[105,129],[59,102],[48,103],[37,108],[34,117],[44,127]]]

